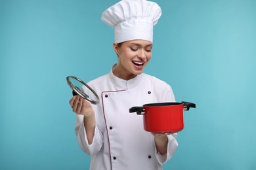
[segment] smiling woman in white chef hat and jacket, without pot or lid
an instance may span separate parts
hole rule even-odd
[[[102,14],[114,28],[117,63],[88,83],[100,96],[98,105],[79,95],[70,99],[77,141],[91,156],[91,170],[162,169],[178,146],[177,133],[147,132],[143,116],[129,113],[134,106],[175,101],[171,86],[142,73],[152,57],[153,26],[160,16],[160,7],[145,0],[119,1]]]

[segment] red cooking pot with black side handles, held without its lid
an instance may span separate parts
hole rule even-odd
[[[150,103],[143,107],[131,107],[129,112],[143,114],[144,129],[153,133],[175,133],[184,128],[184,110],[196,108],[194,103]]]

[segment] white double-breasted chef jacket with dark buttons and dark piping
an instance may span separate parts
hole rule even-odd
[[[168,135],[167,154],[157,152],[154,136],[144,130],[143,115],[129,108],[148,103],[173,102],[171,86],[142,73],[131,80],[117,78],[112,71],[88,83],[99,95],[95,110],[93,143],[88,144],[83,115],[76,116],[79,147],[91,155],[91,170],[160,170],[170,160],[178,143],[177,133]]]

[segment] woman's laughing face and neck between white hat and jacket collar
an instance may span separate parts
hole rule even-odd
[[[145,40],[132,40],[113,44],[118,56],[118,62],[114,69],[114,75],[129,80],[140,75],[152,56],[152,42]]]

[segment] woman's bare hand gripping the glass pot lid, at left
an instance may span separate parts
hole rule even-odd
[[[91,104],[79,95],[74,95],[74,97],[70,99],[70,106],[72,107],[73,112],[81,114],[87,118],[95,115]]]

